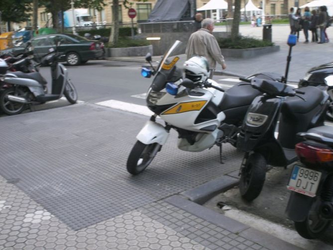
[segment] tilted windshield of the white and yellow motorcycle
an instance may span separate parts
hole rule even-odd
[[[173,58],[177,48],[182,42],[177,40],[164,54],[161,62],[158,65],[157,73],[151,84],[153,91],[161,91],[165,88],[167,81],[177,81],[181,78],[181,71],[176,68],[176,63],[179,60],[178,56]]]

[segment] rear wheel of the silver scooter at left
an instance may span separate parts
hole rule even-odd
[[[23,90],[19,88],[10,88],[2,91],[0,95],[0,109],[4,114],[13,116],[22,113],[25,109],[25,104],[11,102],[7,99],[7,95],[13,95],[18,97],[23,96]]]

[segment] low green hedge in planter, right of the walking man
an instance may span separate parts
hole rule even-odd
[[[238,36],[234,41],[231,38],[218,39],[220,48],[227,49],[248,49],[273,46],[274,43],[266,40],[259,40],[252,37]]]

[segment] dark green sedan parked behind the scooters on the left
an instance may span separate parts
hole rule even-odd
[[[99,41],[88,40],[82,36],[74,34],[50,34],[40,35],[30,39],[34,47],[35,57],[41,58],[49,52],[51,47],[55,47],[55,41],[60,41],[58,47],[59,52],[63,52],[66,56],[64,60],[70,65],[75,66],[86,63],[88,60],[103,57],[104,44]],[[22,54],[25,44],[20,47],[4,49],[1,54],[11,53],[14,56]]]

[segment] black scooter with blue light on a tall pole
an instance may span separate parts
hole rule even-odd
[[[245,152],[239,171],[239,190],[247,201],[254,200],[260,194],[267,164],[286,167],[297,160],[294,148],[299,142],[296,136],[298,132],[324,125],[328,95],[316,87],[294,90],[286,84],[296,36],[290,35],[288,44],[288,63],[282,81],[241,79],[263,93],[248,108],[237,137],[237,149]]]

